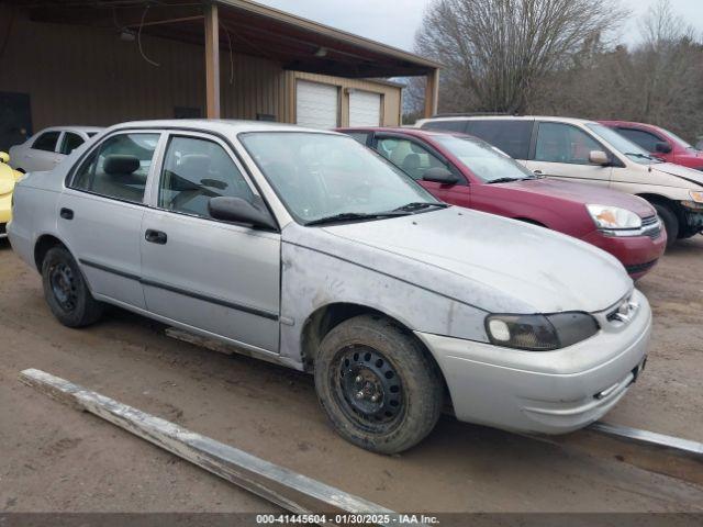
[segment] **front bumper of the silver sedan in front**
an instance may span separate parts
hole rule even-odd
[[[445,375],[459,421],[521,433],[565,434],[605,415],[644,368],[651,328],[647,300],[635,291],[635,315],[555,351],[524,351],[453,337],[416,335]]]

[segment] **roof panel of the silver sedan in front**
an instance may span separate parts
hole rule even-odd
[[[197,128],[220,134],[241,132],[315,132],[336,134],[332,131],[310,128],[294,124],[272,123],[268,121],[241,121],[230,119],[169,119],[156,121],[130,121],[110,126],[109,131],[124,128]]]

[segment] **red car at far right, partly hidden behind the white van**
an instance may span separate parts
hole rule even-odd
[[[600,121],[667,162],[703,170],[703,152],[668,130],[629,121]]]

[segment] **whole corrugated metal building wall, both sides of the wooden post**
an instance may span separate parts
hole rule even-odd
[[[0,5],[0,42],[8,20],[8,8]],[[199,108],[204,114],[203,47],[147,36],[142,44],[158,67],[141,56],[136,42],[122,41],[116,29],[34,23],[18,12],[0,56],[0,91],[30,94],[35,131],[60,124],[172,119],[176,106]],[[284,71],[276,61],[237,54],[231,57],[226,49],[221,51],[223,116],[256,119],[266,114],[294,122],[295,78],[383,93],[384,124],[400,122],[398,87]],[[348,122],[346,94],[341,122]]]

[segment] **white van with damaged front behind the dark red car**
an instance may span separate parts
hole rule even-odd
[[[537,175],[622,190],[649,201],[668,244],[703,232],[703,171],[663,162],[594,121],[512,115],[437,115],[426,130],[460,132],[491,143]]]

